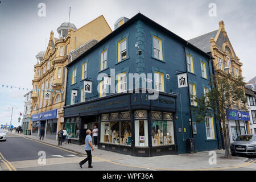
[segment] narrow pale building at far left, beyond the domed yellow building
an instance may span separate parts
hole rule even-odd
[[[31,118],[30,118],[30,114],[31,114],[31,109],[32,109],[32,99],[31,99],[31,96],[32,96],[32,91],[24,94],[24,112],[23,112],[23,119],[22,119],[22,129],[23,129],[23,132],[25,130],[28,130],[29,129],[29,125],[30,125],[30,121],[31,121]]]

